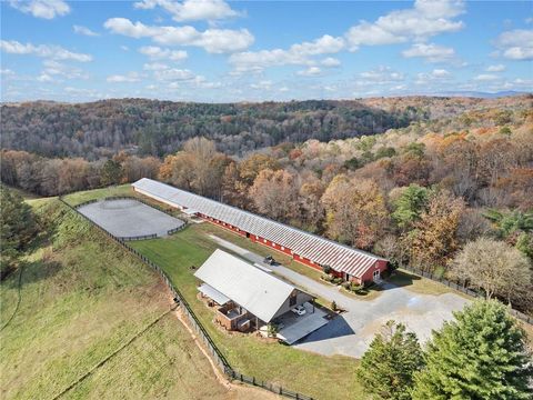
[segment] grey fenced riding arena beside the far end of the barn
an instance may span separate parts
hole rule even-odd
[[[81,204],[78,211],[122,240],[163,237],[184,222],[134,199],[105,199]]]

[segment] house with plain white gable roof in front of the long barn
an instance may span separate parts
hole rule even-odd
[[[220,249],[194,277],[203,282],[198,288],[201,296],[217,307],[215,321],[228,330],[259,329],[313,302],[311,294]]]

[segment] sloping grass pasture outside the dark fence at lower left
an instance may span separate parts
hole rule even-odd
[[[94,227],[57,199],[31,203],[49,236],[0,286],[2,399],[52,399],[171,307],[159,278]],[[168,313],[64,398],[228,396]]]

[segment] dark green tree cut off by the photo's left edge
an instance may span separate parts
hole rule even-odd
[[[30,206],[22,197],[4,187],[0,187],[0,277],[3,278],[36,236],[37,223]]]

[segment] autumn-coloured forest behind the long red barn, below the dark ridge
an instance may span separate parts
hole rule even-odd
[[[2,150],[1,178],[47,196],[142,177],[160,179],[373,251],[393,266],[411,266],[476,286],[532,313],[531,97],[365,102],[374,110],[381,107],[391,114],[421,119],[384,133],[284,141],[242,157],[221,152],[220,141],[202,137],[187,140],[164,158],[121,151],[91,161]],[[291,112],[321,113],[309,108],[345,103],[305,104],[308,111]],[[282,104],[223,106],[225,110],[264,107],[279,110]],[[190,117],[192,124],[202,119]],[[110,117],[107,123],[113,121]],[[314,128],[311,131],[316,133]],[[472,262],[480,257],[485,257],[483,262]],[[474,264],[490,266],[493,274],[487,277]]]

